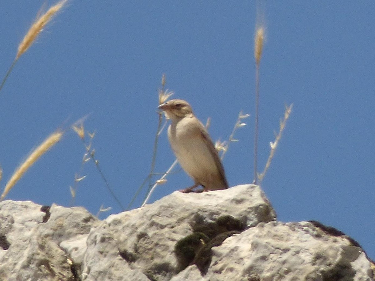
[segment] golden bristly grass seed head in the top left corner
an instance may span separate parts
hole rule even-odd
[[[39,33],[45,28],[49,21],[53,18],[53,16],[64,6],[68,0],[62,0],[55,4],[54,6],[50,7],[47,12],[43,15],[37,16],[33,25],[31,25],[30,29],[27,31],[25,37],[23,38],[22,42],[18,46],[18,52],[16,55],[16,60],[21,57],[24,52],[33,45],[36,37]]]

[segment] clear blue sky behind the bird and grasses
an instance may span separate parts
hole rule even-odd
[[[2,3],[0,74],[42,4]],[[375,259],[375,2],[269,1],[264,10],[260,168],[285,104],[294,107],[262,188],[278,220],[336,227]],[[240,110],[251,115],[223,161],[231,186],[251,183],[256,14],[255,1],[69,1],[0,92],[1,188],[46,136],[89,114],[96,157],[126,206],[150,170],[162,73],[174,98],[187,100],[202,122],[211,117],[214,140],[228,138]],[[7,199],[69,206],[84,151],[67,130]],[[173,161],[164,132],[156,172]],[[178,170],[152,201],[192,183]],[[111,206],[101,218],[121,211],[93,163],[83,175],[75,205],[94,214]]]

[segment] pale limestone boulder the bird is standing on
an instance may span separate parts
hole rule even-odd
[[[177,268],[177,241],[192,234],[195,227],[214,223],[223,215],[238,218],[247,227],[276,217],[255,185],[205,193],[176,191],[153,204],[104,220],[90,233],[83,274],[88,280],[99,280],[97,272],[105,268],[121,272],[129,266],[141,269],[150,280],[169,280]]]

